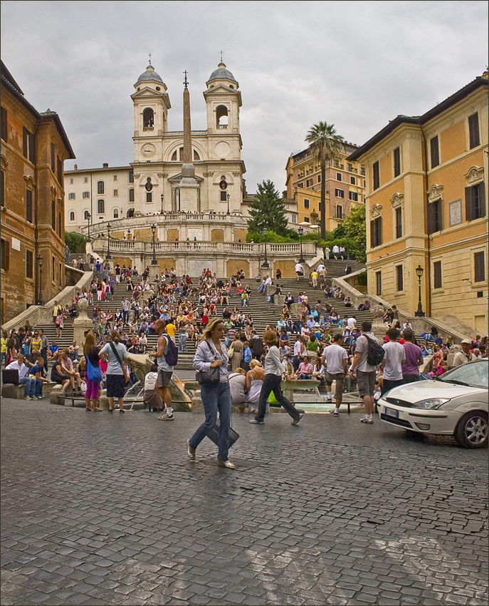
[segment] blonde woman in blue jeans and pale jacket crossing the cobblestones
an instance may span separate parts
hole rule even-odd
[[[212,318],[204,330],[204,336],[196,349],[194,369],[198,372],[209,373],[211,369],[219,369],[215,377],[201,383],[201,398],[204,405],[206,420],[194,435],[186,441],[186,452],[191,461],[195,461],[195,451],[201,441],[212,431],[216,424],[219,411],[219,446],[217,460],[219,464],[233,469],[234,465],[228,460],[229,434],[231,428],[231,391],[228,384],[228,352],[221,343],[224,337],[224,322],[220,318]]]

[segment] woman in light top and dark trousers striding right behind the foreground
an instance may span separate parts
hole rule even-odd
[[[263,425],[265,423],[265,410],[268,402],[268,396],[273,391],[278,404],[282,406],[285,411],[290,414],[293,418],[292,425],[297,425],[303,414],[295,408],[295,406],[288,401],[282,393],[280,383],[282,382],[282,373],[284,371],[282,362],[280,362],[280,353],[277,347],[277,335],[273,330],[265,330],[263,334],[263,341],[268,346],[268,354],[265,356],[265,381],[260,392],[260,402],[258,404],[258,414],[255,418],[252,418],[250,423],[253,425]]]

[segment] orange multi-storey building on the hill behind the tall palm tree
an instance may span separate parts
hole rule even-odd
[[[348,159],[355,150],[357,145],[344,143],[340,150],[340,160],[329,163],[326,167],[327,231],[335,230],[353,206],[364,203],[365,170],[361,163]],[[298,201],[298,222],[307,222],[312,210],[319,212],[320,163],[307,148],[290,155],[285,170],[287,197],[295,197]]]

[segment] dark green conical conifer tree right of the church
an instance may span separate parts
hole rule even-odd
[[[288,221],[285,217],[285,205],[275,185],[270,180],[257,184],[256,199],[250,204],[251,219],[248,219],[248,230],[263,232],[267,227],[278,235],[288,235]]]

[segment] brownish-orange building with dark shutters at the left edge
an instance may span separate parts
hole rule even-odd
[[[71,158],[58,114],[33,108],[2,62],[2,324],[36,304],[40,290],[48,302],[65,287],[63,163]]]

